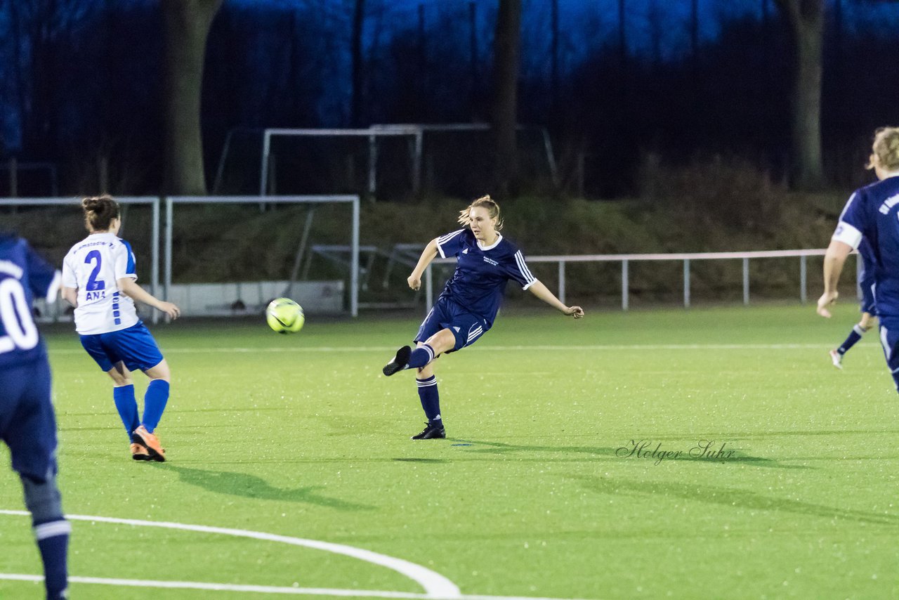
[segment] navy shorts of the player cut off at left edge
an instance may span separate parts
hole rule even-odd
[[[47,359],[0,369],[0,390],[0,439],[13,455],[13,470],[42,483],[57,472]]]

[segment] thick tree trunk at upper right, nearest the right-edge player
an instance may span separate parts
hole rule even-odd
[[[799,189],[823,185],[821,157],[821,72],[823,0],[776,0],[793,40],[792,184]]]

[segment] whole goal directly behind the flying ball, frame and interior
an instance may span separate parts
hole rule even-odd
[[[256,315],[280,297],[358,315],[359,196],[168,196],[164,210],[163,294],[184,315]],[[334,260],[310,260],[323,252]]]

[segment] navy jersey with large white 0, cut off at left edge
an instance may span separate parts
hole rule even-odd
[[[55,299],[59,282],[60,273],[25,240],[0,234],[0,369],[46,359],[31,303]]]

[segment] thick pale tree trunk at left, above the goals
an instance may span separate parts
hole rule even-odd
[[[165,24],[165,192],[203,195],[200,92],[206,40],[223,0],[162,0]]]

